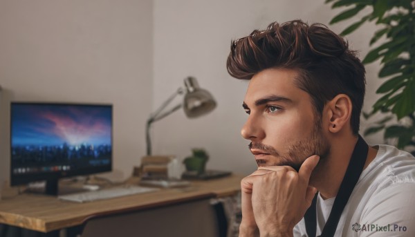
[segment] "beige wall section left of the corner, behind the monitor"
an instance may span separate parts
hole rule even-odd
[[[129,176],[151,111],[152,9],[151,0],[0,1],[0,181],[10,100],[112,103],[114,168]]]

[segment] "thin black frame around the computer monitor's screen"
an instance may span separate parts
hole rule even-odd
[[[53,106],[106,106],[111,108],[111,159],[108,165],[101,167],[89,167],[86,169],[76,169],[71,171],[54,171],[50,173],[30,173],[24,175],[14,175],[12,171],[12,109],[15,104],[28,105],[53,105]],[[77,103],[77,102],[10,102],[10,185],[18,186],[29,184],[30,182],[55,181],[60,178],[70,178],[73,176],[87,176],[96,173],[110,172],[113,170],[113,104],[109,103]]]

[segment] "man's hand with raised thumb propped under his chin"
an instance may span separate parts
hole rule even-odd
[[[319,160],[317,155],[307,158],[298,173],[291,167],[260,167],[243,178],[242,193],[252,193],[252,213],[261,236],[292,235],[317,191],[308,182]]]

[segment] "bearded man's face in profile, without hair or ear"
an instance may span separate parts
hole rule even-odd
[[[295,70],[270,68],[250,80],[243,102],[248,120],[241,134],[259,167],[288,165],[297,171],[311,155],[330,151],[311,97],[295,86]]]

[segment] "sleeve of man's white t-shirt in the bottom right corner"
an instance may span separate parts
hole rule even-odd
[[[360,219],[360,237],[415,236],[415,183],[385,187],[367,202]]]

